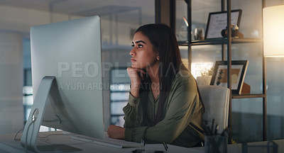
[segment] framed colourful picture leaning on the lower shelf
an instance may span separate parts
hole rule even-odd
[[[249,60],[231,61],[231,93],[241,94]],[[227,87],[227,62],[217,61],[210,85]]]

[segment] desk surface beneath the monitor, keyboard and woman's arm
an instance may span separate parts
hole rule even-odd
[[[0,152],[4,153],[24,153],[25,149],[21,147],[21,143],[19,140],[13,140],[14,134],[7,134],[7,135],[0,135]],[[19,139],[21,135],[17,136]],[[40,138],[41,137],[41,138]],[[79,140],[73,140],[70,138],[70,135],[63,135],[60,131],[55,132],[40,132],[38,138],[38,145],[68,145],[71,147],[75,147],[77,150],[75,152],[103,152],[103,153],[124,153],[129,152],[131,153],[136,148],[124,148],[124,149],[117,149],[113,147],[105,147],[102,145],[95,145],[88,142],[81,142]],[[278,153],[284,152],[284,140],[274,140],[278,144]],[[266,142],[250,142],[249,145],[261,145],[266,144]],[[168,153],[203,153],[204,147],[195,147],[195,148],[185,148],[185,147],[178,147],[175,145],[168,145]],[[165,151],[165,148],[161,144],[147,144],[145,146],[146,150],[161,150]],[[228,153],[239,153],[241,152],[241,144],[236,145],[228,145]]]

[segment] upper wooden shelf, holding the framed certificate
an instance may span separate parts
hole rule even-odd
[[[231,43],[251,43],[251,42],[262,42],[261,38],[231,38]],[[192,40],[191,45],[222,45],[226,44],[228,39],[217,38],[217,39],[207,39],[207,40]],[[188,41],[178,41],[178,45],[187,46]]]

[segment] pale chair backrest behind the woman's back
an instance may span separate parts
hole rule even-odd
[[[214,125],[219,125],[218,133],[222,132],[228,126],[229,89],[209,85],[200,85],[198,89],[205,107],[203,119],[207,120],[211,127],[214,118]]]

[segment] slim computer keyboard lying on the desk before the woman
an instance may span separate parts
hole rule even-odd
[[[141,144],[136,142],[127,142],[125,140],[116,140],[111,139],[109,137],[104,137],[104,139],[87,137],[84,135],[73,135],[71,139],[80,140],[82,142],[89,142],[97,145],[104,145],[107,147],[115,147],[115,148],[125,148],[125,147],[141,147]]]

